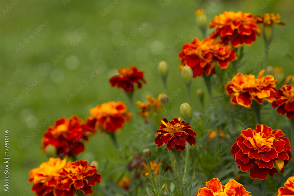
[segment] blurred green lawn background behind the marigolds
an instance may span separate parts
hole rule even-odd
[[[0,195],[34,195],[28,191],[28,172],[48,160],[39,150],[46,128],[40,132],[36,130],[39,125],[48,122],[46,118],[52,119],[47,127],[62,116],[68,118],[76,114],[84,118],[89,115],[90,108],[109,100],[122,98],[129,105],[127,98],[121,96],[123,91],[111,88],[108,82],[117,68],[135,65],[145,71],[147,85],[135,91],[134,100],[144,100],[146,93],[157,97],[163,92],[163,85],[157,67],[152,68],[151,63],[156,63],[156,59],[161,60],[158,59],[160,54],[168,50],[168,54],[163,58],[170,68],[167,95],[171,96],[173,91],[180,88],[182,79],[178,68],[178,53],[182,45],[194,37],[203,38],[195,21],[194,10],[197,8],[208,10],[208,21],[223,11],[231,10],[252,12],[254,15],[281,13],[281,21],[287,25],[274,26],[274,39],[280,37],[283,41],[270,52],[268,64],[283,67],[287,75],[294,73],[293,61],[286,57],[287,53],[293,54],[292,0],[117,0],[117,4],[113,4],[114,0],[15,0],[15,5],[12,6],[13,2],[0,1]],[[109,3],[115,6],[108,13],[104,12],[110,6]],[[213,3],[216,4],[215,7],[211,7]],[[13,8],[7,8],[9,5]],[[101,13],[105,15],[101,16]],[[43,20],[49,22],[46,24]],[[141,23],[147,25],[141,26],[141,32],[137,35],[132,33],[140,28]],[[212,30],[208,31],[210,33]],[[80,36],[81,32],[83,36]],[[177,45],[171,46],[178,35],[183,36],[183,39]],[[79,36],[81,39],[78,39]],[[131,42],[115,56],[113,51],[123,42],[126,43],[127,39]],[[23,42],[29,43],[24,43],[26,46],[21,49],[20,43]],[[63,57],[62,51],[66,51],[68,47],[70,51],[54,65],[53,60],[58,60],[57,56]],[[247,63],[239,71],[249,73],[248,66],[264,52],[262,36],[251,47],[245,46],[244,51]],[[86,80],[93,70],[100,73],[87,83]],[[39,81],[34,87],[30,86],[33,80]],[[66,98],[80,85],[83,85],[84,89],[67,103]],[[192,84],[192,107],[196,110],[198,106],[200,108],[200,101],[196,96],[198,88],[207,92],[203,78],[196,78]],[[19,103],[6,111],[10,103],[18,100],[20,95],[23,98]],[[172,101],[173,115],[179,115],[179,106],[184,101],[186,92],[183,90]],[[209,102],[206,104],[209,105]],[[8,193],[4,191],[3,186],[3,141],[6,129],[9,130],[10,157]],[[118,132],[118,142],[128,138],[131,131],[127,125],[123,131]],[[32,138],[34,132],[36,136],[20,150],[19,146],[23,145],[26,139]],[[101,135],[100,132],[85,146],[86,152],[93,153],[98,161],[116,154],[108,135]],[[85,153],[82,153],[78,158],[83,158],[84,155]]]

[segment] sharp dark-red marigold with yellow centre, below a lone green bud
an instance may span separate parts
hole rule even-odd
[[[154,142],[158,147],[166,144],[168,150],[172,150],[175,147],[176,150],[185,150],[186,141],[193,146],[196,144],[196,133],[191,129],[189,123],[181,121],[182,117],[174,118],[171,121],[163,118],[160,125],[160,129],[156,131],[158,135]]]

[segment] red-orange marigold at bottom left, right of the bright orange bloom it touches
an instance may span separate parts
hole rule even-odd
[[[80,160],[68,164],[60,172],[57,180],[56,195],[74,196],[79,189],[85,195],[92,194],[91,186],[100,183],[101,175],[98,174],[94,165],[88,166],[88,161]]]

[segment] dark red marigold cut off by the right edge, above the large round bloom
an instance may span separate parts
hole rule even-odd
[[[275,101],[273,101],[273,108],[278,107],[277,112],[279,114],[285,115],[287,113],[287,118],[294,118],[294,86],[290,84],[289,86],[283,86],[278,89],[275,93]]]

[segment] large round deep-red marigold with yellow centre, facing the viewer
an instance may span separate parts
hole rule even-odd
[[[264,180],[268,174],[273,177],[278,170],[283,174],[283,167],[292,158],[289,140],[284,135],[279,129],[259,124],[256,130],[243,130],[231,149],[235,163],[242,172],[249,170],[252,179]]]

